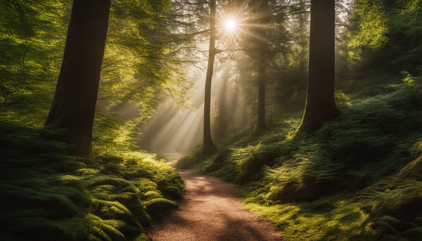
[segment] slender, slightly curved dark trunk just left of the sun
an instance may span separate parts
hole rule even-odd
[[[205,79],[205,101],[204,101],[204,141],[202,146],[202,154],[208,155],[217,151],[217,147],[211,138],[211,80],[214,70],[214,59],[216,54],[215,40],[215,14],[216,14],[216,0],[211,0],[210,6],[210,44],[208,49],[208,66],[207,75]]]

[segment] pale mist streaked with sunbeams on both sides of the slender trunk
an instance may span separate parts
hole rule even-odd
[[[247,123],[246,111],[242,111],[243,98],[238,87],[238,80],[233,74],[234,61],[227,60],[225,65],[214,72],[211,95],[211,122],[214,128],[211,133],[215,136],[223,135],[227,130],[233,132],[233,125]],[[162,105],[155,109],[156,114],[146,123],[139,125],[141,135],[139,146],[149,152],[158,153],[187,153],[195,149],[203,138],[203,111],[206,73],[194,69],[192,83],[195,89],[189,92],[189,102],[192,109],[177,106],[168,97],[162,97]],[[137,108],[128,109],[127,112],[138,111]],[[236,113],[243,112],[238,123]],[[129,114],[129,113],[128,113]],[[129,114],[130,115],[130,114]],[[238,126],[237,126],[238,127]]]

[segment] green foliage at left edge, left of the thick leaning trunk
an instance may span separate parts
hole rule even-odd
[[[0,6],[0,111],[3,118],[40,125],[60,71],[70,1],[5,1]]]

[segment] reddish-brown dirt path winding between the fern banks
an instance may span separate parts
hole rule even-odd
[[[177,154],[171,156],[176,163]],[[154,223],[152,241],[283,241],[270,222],[241,208],[235,185],[212,176],[176,169],[185,180],[186,194],[176,209]]]

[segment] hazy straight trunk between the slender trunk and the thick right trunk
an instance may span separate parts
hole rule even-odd
[[[257,24],[267,25],[269,22],[269,7],[268,0],[261,0],[257,3]],[[266,76],[266,61],[268,53],[268,43],[266,40],[266,29],[264,26],[260,26],[257,29],[257,35],[262,39],[258,39],[257,44],[257,77],[258,77],[258,122],[257,127],[261,129],[267,129],[267,123],[265,122],[265,80]]]

